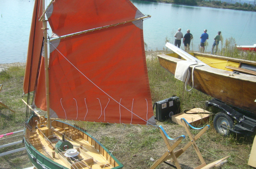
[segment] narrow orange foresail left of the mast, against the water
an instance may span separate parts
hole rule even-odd
[[[32,16],[32,23],[30,28],[30,35],[28,41],[28,55],[27,55],[27,62],[26,62],[26,69],[25,69],[25,76],[24,76],[24,84],[23,90],[24,93],[28,93],[34,90],[35,81],[36,81],[36,73],[38,67],[38,61],[41,57],[41,46],[43,42],[43,22],[38,21],[38,19],[42,16],[42,9],[40,6],[43,6],[43,1],[35,1],[34,11]],[[32,59],[33,58],[33,59]],[[32,66],[31,66],[32,65]],[[31,88],[28,91],[29,87],[29,76],[31,72]]]

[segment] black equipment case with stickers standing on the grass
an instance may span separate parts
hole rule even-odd
[[[180,98],[172,96],[155,103],[156,105],[156,119],[164,121],[172,117],[172,115],[180,113]]]

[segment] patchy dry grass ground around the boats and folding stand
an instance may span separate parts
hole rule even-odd
[[[233,41],[227,40],[225,45],[220,47],[219,54],[255,60],[255,53],[243,53],[234,48]],[[184,83],[176,80],[170,73],[164,70],[157,60],[156,55],[169,53],[170,51],[147,51],[148,76],[152,95],[152,104],[156,101],[169,98],[172,95],[179,96],[181,99],[181,110],[198,107],[205,109],[205,100],[210,97],[203,93],[192,90],[184,92]],[[21,101],[22,83],[24,67],[6,67],[0,73],[0,84],[3,84],[0,92],[0,101],[10,109],[0,107],[0,134],[9,133],[23,129],[25,120],[25,105]],[[74,122],[70,122],[73,123]],[[158,159],[165,151],[166,145],[159,133],[159,130],[149,127],[124,126],[118,124],[103,124],[90,122],[76,122],[77,125],[87,129],[93,137],[97,138],[108,150],[113,151],[114,156],[124,165],[124,169],[146,169],[153,164],[153,159]],[[170,137],[176,138],[182,134],[186,135],[184,128],[172,121],[158,122],[167,131]],[[223,169],[245,169],[252,168],[247,165],[248,156],[251,151],[253,137],[231,135],[229,137],[220,136],[213,128],[212,119],[207,122],[211,128],[197,140],[200,151],[206,161],[211,163],[219,158],[231,155],[228,162],[221,168]],[[204,125],[204,124],[203,124]],[[193,134],[197,131],[193,130]],[[1,141],[0,144],[21,140],[17,137],[9,141]],[[188,137],[184,139],[179,148],[189,142]],[[13,147],[0,149],[0,153],[12,149],[23,147],[18,144]],[[196,167],[200,161],[196,156],[193,147],[190,147],[178,158],[182,168]],[[0,157],[0,168],[26,168],[32,166],[28,160],[26,151],[16,152]],[[161,164],[158,168],[170,168],[166,164]]]

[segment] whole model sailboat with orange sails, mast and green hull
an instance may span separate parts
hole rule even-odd
[[[150,16],[129,0],[44,8],[35,1],[24,77],[29,158],[36,168],[122,168],[95,138],[57,119],[155,125],[142,26]]]

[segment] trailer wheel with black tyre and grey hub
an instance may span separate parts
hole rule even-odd
[[[215,130],[218,133],[220,133],[224,136],[227,136],[230,134],[230,131],[220,127],[220,124],[227,126],[230,129],[233,129],[234,128],[234,119],[231,116],[229,116],[223,112],[217,113],[213,118],[213,125],[214,125]]]

